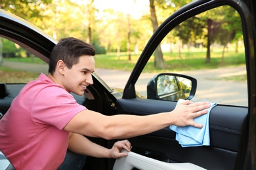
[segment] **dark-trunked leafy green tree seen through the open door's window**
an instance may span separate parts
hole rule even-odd
[[[223,45],[224,58],[227,44],[242,39],[240,22],[236,10],[230,6],[221,6],[193,16],[177,25],[174,35],[178,36],[183,44],[203,43],[207,48],[205,62],[210,63],[211,44],[217,42]]]

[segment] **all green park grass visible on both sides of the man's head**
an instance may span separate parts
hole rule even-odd
[[[182,52],[181,57],[179,57],[177,52],[163,53],[163,59],[165,60],[166,66],[165,69],[156,69],[154,67],[154,57],[152,57],[144,68],[144,73],[215,69],[218,67],[236,67],[238,65],[245,64],[244,52],[225,52],[223,60],[221,57],[222,52],[211,52],[210,63],[205,62],[205,55],[205,52]],[[139,54],[132,54],[131,60],[128,61],[128,56],[125,52],[121,53],[119,58],[117,58],[116,53],[100,54],[95,56],[95,67],[102,69],[116,69],[120,71],[132,71],[138,59]],[[44,61],[39,58],[4,58],[4,61],[5,60],[26,63],[44,63]],[[37,78],[38,74],[0,67],[0,82],[14,82],[14,80],[8,79],[14,76],[16,76],[16,79],[18,79],[19,82],[28,82],[28,79],[33,80]],[[22,77],[25,77],[26,80],[22,80]],[[224,79],[246,80],[246,76],[230,76]]]

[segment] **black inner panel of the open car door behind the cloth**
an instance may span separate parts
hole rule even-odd
[[[149,99],[118,99],[117,114],[147,115],[173,110],[176,103]],[[217,105],[209,116],[210,146],[182,148],[169,127],[129,139],[133,152],[167,162],[190,162],[206,169],[234,169],[247,139],[246,107]]]

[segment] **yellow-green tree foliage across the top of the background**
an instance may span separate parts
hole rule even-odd
[[[106,9],[100,12],[94,0],[2,0],[1,9],[32,22],[55,39],[77,37],[105,52],[138,53],[150,39],[153,31],[175,10],[190,0],[149,0],[148,12],[140,18]],[[151,12],[150,12],[151,11]],[[217,7],[182,22],[169,34],[168,43],[186,44],[207,48],[205,61],[211,61],[211,46],[217,43],[224,50],[231,43],[242,40],[241,20],[238,12],[229,6]],[[11,48],[11,46],[10,46]],[[182,51],[182,46],[180,46]],[[164,68],[161,46],[155,52],[155,66]]]

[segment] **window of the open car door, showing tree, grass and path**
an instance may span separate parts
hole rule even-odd
[[[172,29],[161,41],[164,69],[156,69],[155,50],[135,89],[147,97],[147,83],[158,73],[179,73],[196,78],[192,101],[247,106],[247,78],[242,21],[230,6],[192,16]]]

